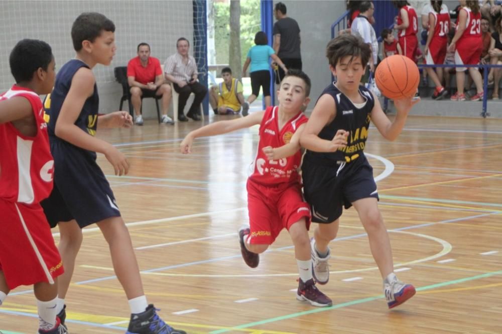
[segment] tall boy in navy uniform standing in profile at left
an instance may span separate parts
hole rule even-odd
[[[96,223],[108,242],[113,269],[131,308],[128,333],[185,333],[159,318],[143,292],[129,231],[113,192],[96,163],[104,154],[116,175],[127,174],[129,162],[113,145],[94,137],[96,129],[133,125],[127,112],[98,116],[99,97],[92,68],[109,65],[115,54],[115,26],[99,13],[83,13],[73,23],[75,59],[59,70],[51,95],[49,139],[54,156],[54,190],[42,203],[51,226],[59,226],[59,251],[66,272],[59,287],[58,312],[65,317],[64,297],[82,242],[81,228]]]

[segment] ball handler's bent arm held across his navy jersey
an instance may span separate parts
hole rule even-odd
[[[309,117],[305,129],[300,136],[300,145],[314,152],[335,152],[347,144],[348,132],[339,130],[332,140],[319,138],[319,132],[336,117],[335,100],[331,95],[324,94]]]

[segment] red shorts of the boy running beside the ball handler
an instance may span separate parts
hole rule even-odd
[[[251,233],[249,243],[272,244],[283,228],[305,218],[310,227],[310,207],[303,200],[300,184],[265,186],[247,180],[247,209]]]

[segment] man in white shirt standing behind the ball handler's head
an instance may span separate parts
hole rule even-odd
[[[351,34],[362,38],[364,43],[369,44],[371,58],[368,61],[368,65],[369,70],[374,72],[378,57],[378,40],[376,39],[375,30],[369,22],[369,18],[373,16],[375,8],[372,2],[363,1],[359,4],[359,10],[361,13],[354,19],[352,27],[350,27]]]

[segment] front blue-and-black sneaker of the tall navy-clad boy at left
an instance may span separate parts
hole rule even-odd
[[[150,304],[144,312],[131,314],[126,334],[187,334],[165,323],[156,311],[154,305]]]

